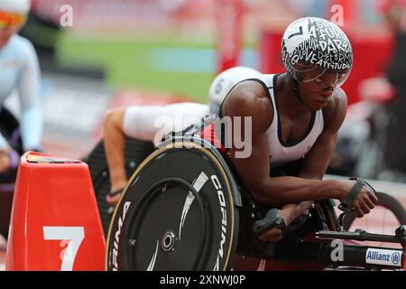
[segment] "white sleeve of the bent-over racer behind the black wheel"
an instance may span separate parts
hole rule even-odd
[[[208,114],[208,106],[183,102],[166,106],[128,107],[125,110],[125,135],[158,144],[171,131],[180,131]]]

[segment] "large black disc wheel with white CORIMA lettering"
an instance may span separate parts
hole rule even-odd
[[[116,206],[106,269],[230,269],[238,236],[231,182],[217,157],[198,144],[155,151]]]

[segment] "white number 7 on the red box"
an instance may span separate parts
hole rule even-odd
[[[60,271],[72,271],[78,248],[85,238],[83,227],[43,227],[45,240],[69,240],[69,245],[62,257]]]

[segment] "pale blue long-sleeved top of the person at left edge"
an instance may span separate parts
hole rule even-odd
[[[40,98],[41,72],[32,43],[14,35],[0,49],[0,110],[14,89],[18,90],[21,106],[20,128],[23,148],[41,146],[42,101]],[[7,145],[0,134],[0,149]]]

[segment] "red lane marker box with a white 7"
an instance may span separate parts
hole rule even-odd
[[[105,248],[88,165],[48,154],[24,154],[5,269],[104,270]]]

